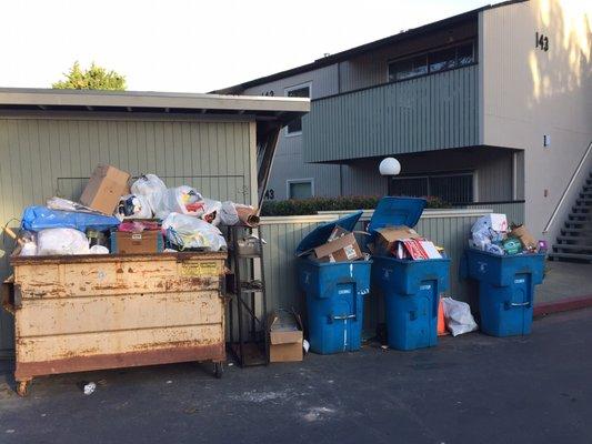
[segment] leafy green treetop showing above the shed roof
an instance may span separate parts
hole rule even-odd
[[[116,71],[107,71],[94,62],[88,70],[80,68],[80,63],[74,62],[70,72],[64,73],[66,79],[51,85],[58,90],[110,90],[126,91],[126,77]]]

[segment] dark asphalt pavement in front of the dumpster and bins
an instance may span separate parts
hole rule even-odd
[[[27,398],[0,374],[2,443],[585,443],[592,436],[592,310],[530,336],[365,346],[302,363],[198,364],[40,377]],[[80,384],[98,383],[86,396]]]

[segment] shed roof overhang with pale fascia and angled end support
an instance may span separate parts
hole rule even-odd
[[[271,171],[280,128],[310,110],[308,98],[270,98],[177,92],[90,91],[0,88],[0,114],[113,119],[169,114],[198,120],[239,120],[257,124],[259,203]]]

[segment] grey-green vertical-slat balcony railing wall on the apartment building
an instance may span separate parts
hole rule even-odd
[[[331,95],[302,121],[305,162],[479,144],[479,65]]]

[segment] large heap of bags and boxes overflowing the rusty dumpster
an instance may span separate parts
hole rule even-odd
[[[80,202],[51,198],[21,218],[20,255],[221,251],[221,225],[259,223],[253,206],[204,198],[195,189],[168,188],[155,174],[99,165]]]

